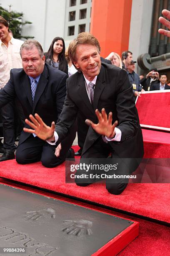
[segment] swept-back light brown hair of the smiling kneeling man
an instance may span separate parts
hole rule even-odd
[[[97,38],[90,34],[89,32],[82,32],[78,34],[77,38],[70,42],[68,47],[68,56],[72,63],[77,61],[76,48],[80,44],[90,44],[97,47],[98,53],[100,54],[100,44]]]

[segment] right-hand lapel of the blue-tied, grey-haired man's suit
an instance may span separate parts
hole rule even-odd
[[[35,97],[34,97],[34,104],[33,104],[33,109],[32,109],[32,113],[34,113],[35,111],[35,107],[37,105],[37,102],[38,100],[40,99],[46,85],[47,85],[47,82],[48,82],[48,70],[47,70],[47,67],[44,66],[44,70],[40,76],[40,80],[38,82],[38,85],[37,85],[37,90],[35,92]]]

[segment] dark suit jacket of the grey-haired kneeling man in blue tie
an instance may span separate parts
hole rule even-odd
[[[52,121],[57,122],[61,113],[66,95],[67,74],[48,64],[40,76],[37,90],[35,92],[34,103],[32,102],[30,79],[23,69],[11,69],[10,80],[5,87],[0,90],[0,108],[15,97],[18,97],[25,118],[38,113],[42,120],[49,126]],[[28,127],[28,125],[25,125]],[[30,133],[21,133],[19,143],[25,141]]]

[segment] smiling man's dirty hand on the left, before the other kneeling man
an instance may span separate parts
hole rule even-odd
[[[51,127],[47,126],[42,118],[38,114],[29,115],[30,122],[28,119],[25,119],[25,123],[30,125],[32,129],[23,128],[26,133],[35,133],[40,139],[44,141],[55,141],[54,131],[55,131],[55,123],[52,122]],[[34,129],[34,130],[33,130]]]

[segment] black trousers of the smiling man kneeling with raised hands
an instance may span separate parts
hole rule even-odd
[[[88,162],[85,161],[85,164],[97,164],[97,162],[94,159],[97,158],[107,158],[111,153],[111,158],[116,159],[115,161],[113,160],[113,163],[118,164],[117,170],[109,170],[106,174],[107,175],[113,175],[113,174],[118,174],[118,175],[129,175],[130,171],[128,170],[125,162],[123,159],[120,159],[120,157],[115,153],[115,151],[112,149],[109,143],[105,143],[102,140],[102,137],[100,136],[95,143],[81,156],[81,160],[83,163],[83,159],[89,159]],[[99,160],[100,162],[100,160]],[[105,162],[107,164],[107,161]],[[105,173],[102,171],[102,173]],[[101,174],[100,170],[90,170],[90,172],[86,172],[84,170],[77,170],[77,174]],[[89,179],[78,179],[75,178],[75,183],[78,186],[88,186],[94,182],[97,182],[101,179],[96,179],[96,178],[89,178]],[[106,179],[106,189],[108,192],[110,192],[113,195],[120,195],[123,190],[127,187],[128,185],[128,180],[127,178],[120,178],[120,179]],[[87,183],[88,182],[88,183]]]

